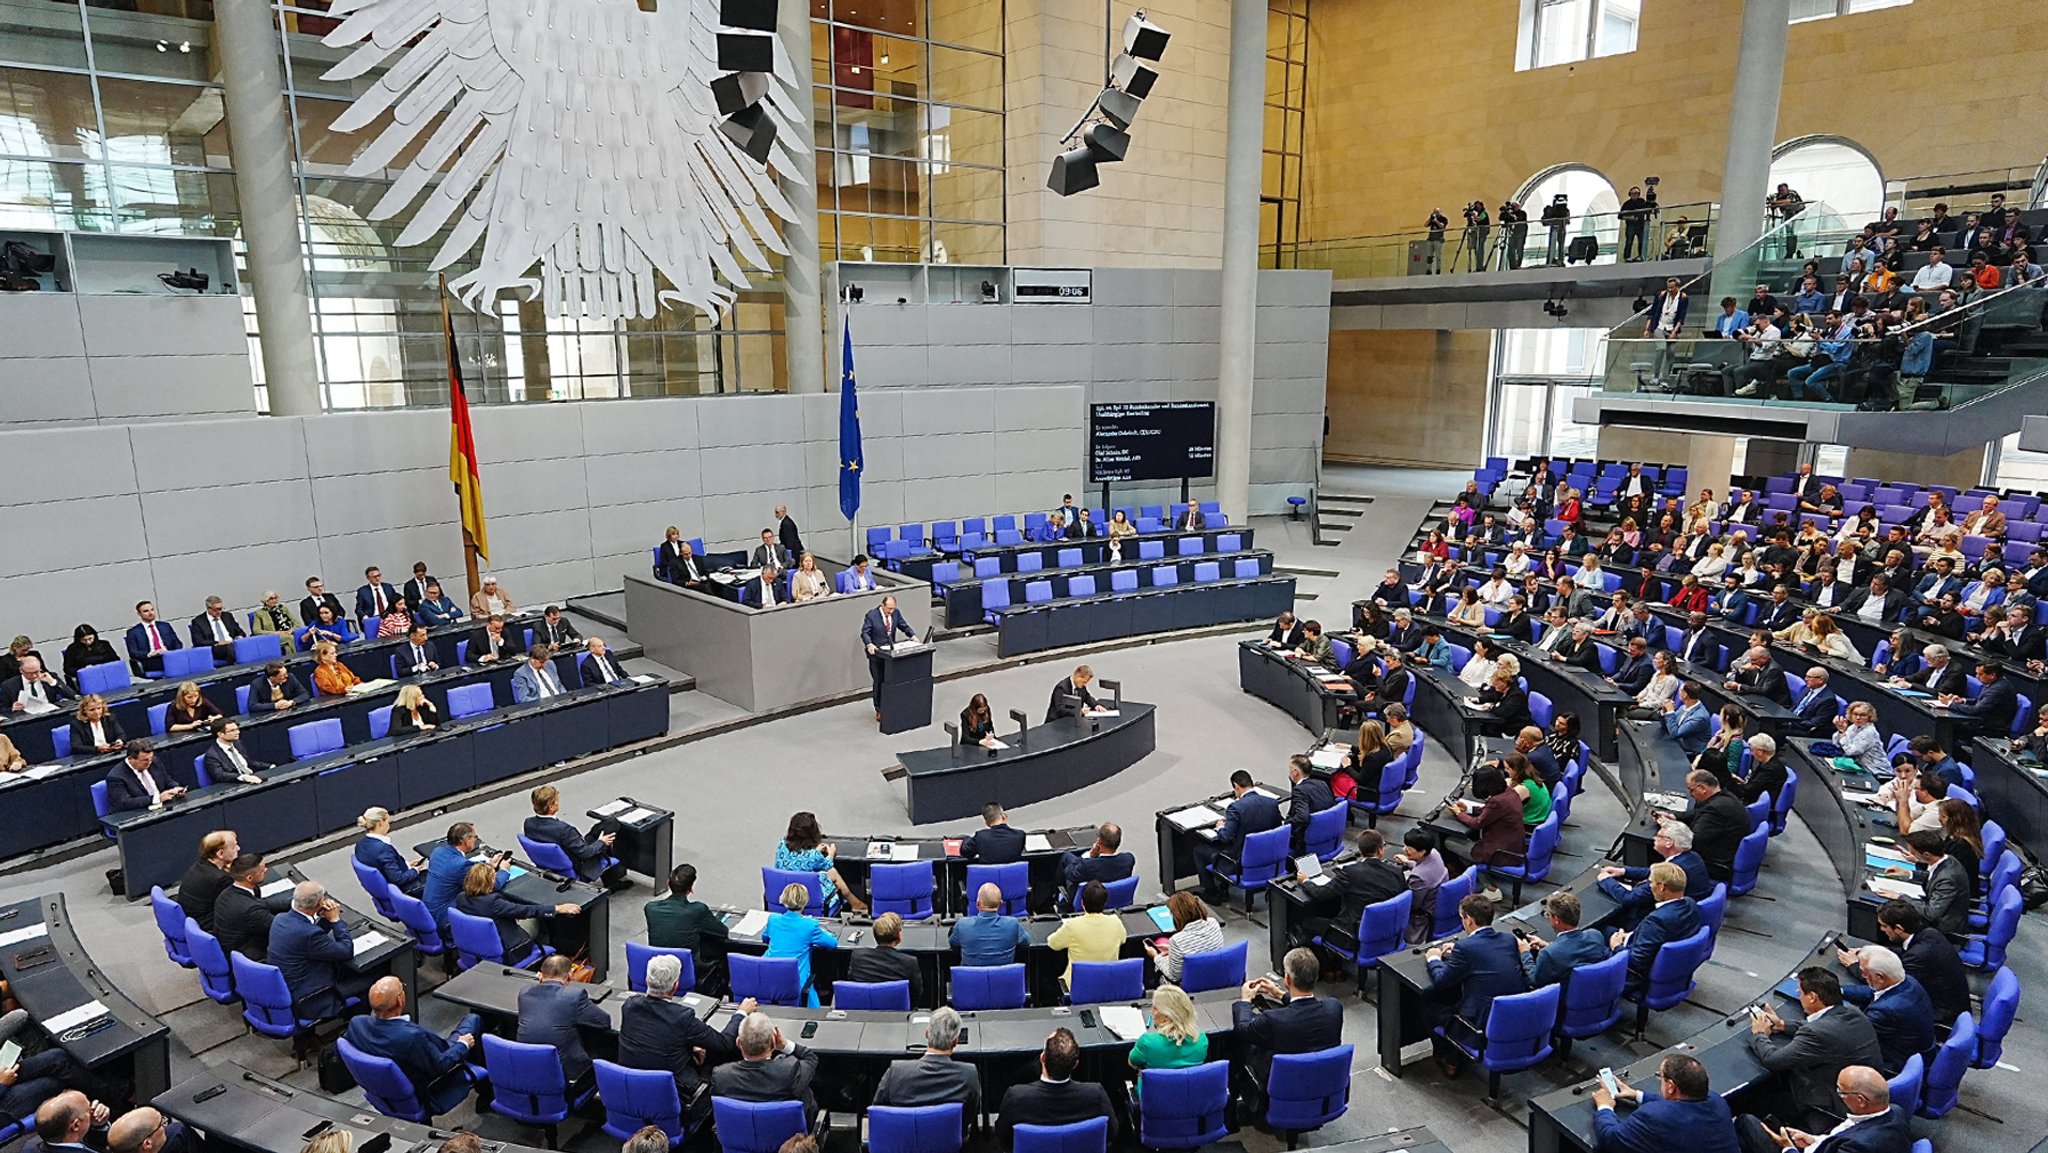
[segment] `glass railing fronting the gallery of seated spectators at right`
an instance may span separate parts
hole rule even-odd
[[[1808,205],[1769,223],[1749,248],[1716,260],[1683,285],[1688,315],[1679,340],[1655,334],[1657,301],[1606,334],[1602,389],[1751,405],[1948,410],[2048,373],[2048,276],[1978,291],[1942,309],[1948,293],[1905,293],[1892,309],[1835,340],[1825,315],[1794,315],[1772,346],[1702,336],[1714,332],[1718,301],[1749,301],[1757,285],[1786,295],[1804,256],[1841,252],[1839,215]],[[1913,303],[1913,301],[1919,303]],[[1763,354],[1757,354],[1757,352]]]

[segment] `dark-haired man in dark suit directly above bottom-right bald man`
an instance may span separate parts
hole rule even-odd
[[[1833,971],[1819,965],[1800,969],[1798,1003],[1806,1012],[1804,1022],[1786,1022],[1769,1006],[1751,1014],[1749,1051],[1784,1077],[1772,1112],[1808,1133],[1827,1133],[1841,1108],[1835,1077],[1849,1065],[1876,1069],[1884,1055],[1864,1010],[1841,999],[1841,979]]]

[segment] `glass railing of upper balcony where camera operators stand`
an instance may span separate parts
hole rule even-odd
[[[1540,205],[1528,209],[1540,215]],[[1430,240],[1427,229],[1352,236],[1284,246],[1278,256],[1268,250],[1268,268],[1327,268],[1337,281],[1366,276],[1432,276],[1452,272],[1497,272],[1540,268],[1544,264],[1618,264],[1626,256],[1640,260],[1681,260],[1706,256],[1714,248],[1714,223],[1720,205],[1659,205],[1642,221],[1642,252],[1630,246],[1620,211],[1575,213],[1563,227],[1540,219],[1501,225],[1489,211],[1487,227],[1452,219],[1444,240]]]

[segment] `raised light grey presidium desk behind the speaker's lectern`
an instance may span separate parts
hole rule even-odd
[[[815,557],[817,553],[813,553]],[[846,565],[817,557],[834,578]],[[627,573],[627,621],[649,659],[696,678],[696,688],[748,713],[774,713],[846,692],[866,694],[868,653],[860,623],[885,596],[924,637],[932,627],[932,586],[874,567],[868,592],[754,608]]]

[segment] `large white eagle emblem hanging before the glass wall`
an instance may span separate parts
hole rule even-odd
[[[651,317],[672,303],[723,315],[750,287],[745,268],[770,266],[764,248],[788,252],[772,217],[795,213],[774,172],[807,168],[786,109],[811,92],[776,41],[778,84],[762,100],[774,154],[764,166],[739,152],[711,96],[719,0],[651,12],[637,0],[338,0],[332,12],[344,20],[324,43],[356,47],[326,78],[385,70],[336,129],[391,113],[348,174],[416,147],[371,219],[420,201],[397,242],[449,227],[436,270],[481,238],[475,270],[451,283],[469,307],[516,289],[555,315]]]

